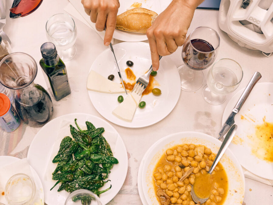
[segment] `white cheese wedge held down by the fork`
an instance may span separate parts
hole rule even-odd
[[[131,94],[120,103],[113,111],[112,114],[116,117],[131,122],[136,111],[136,101]]]

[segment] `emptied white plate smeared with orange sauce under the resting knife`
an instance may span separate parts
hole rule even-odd
[[[222,123],[227,120],[244,89],[236,93],[227,103]],[[248,136],[255,136],[255,126],[265,121],[273,123],[273,83],[257,83],[241,110],[235,115],[234,121],[238,125],[236,135],[229,145],[241,165],[248,171],[265,179],[273,179],[273,162],[258,159],[252,153],[253,142]],[[272,141],[271,141],[272,142]],[[269,142],[270,143],[270,142]],[[273,149],[272,151],[273,152]]]

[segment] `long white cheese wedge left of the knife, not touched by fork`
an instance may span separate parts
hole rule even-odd
[[[86,88],[101,93],[125,93],[122,84],[108,80],[94,70],[89,73]]]

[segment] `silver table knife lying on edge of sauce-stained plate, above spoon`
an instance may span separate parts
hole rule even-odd
[[[235,105],[235,107],[233,108],[231,114],[228,116],[227,120],[225,121],[224,125],[222,126],[220,132],[216,136],[217,139],[221,139],[227,133],[227,131],[229,130],[229,128],[234,124],[235,114],[237,114],[240,111],[240,109],[243,106],[244,102],[248,98],[248,95],[252,91],[254,85],[260,79],[261,79],[261,73],[259,73],[258,71],[256,71],[254,73],[254,75],[252,76],[251,80],[249,81],[247,87],[244,89],[243,94],[239,98],[239,100],[238,100],[237,104]]]

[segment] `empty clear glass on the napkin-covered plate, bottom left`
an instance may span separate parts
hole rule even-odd
[[[35,183],[23,173],[13,175],[5,186],[5,198],[11,205],[31,204],[35,192]]]

